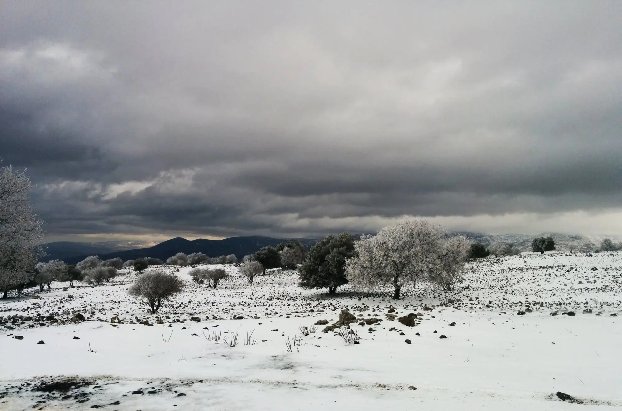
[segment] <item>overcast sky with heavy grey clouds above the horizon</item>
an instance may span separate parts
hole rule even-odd
[[[0,1],[48,240],[622,234],[622,2]]]

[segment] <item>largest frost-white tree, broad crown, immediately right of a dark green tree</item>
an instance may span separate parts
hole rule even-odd
[[[355,243],[358,257],[346,264],[348,279],[365,287],[391,284],[399,300],[404,284],[424,280],[439,264],[445,234],[427,220],[407,219],[361,237]]]

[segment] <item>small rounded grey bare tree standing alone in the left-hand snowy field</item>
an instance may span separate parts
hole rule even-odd
[[[156,270],[139,276],[129,287],[128,293],[136,298],[145,298],[151,312],[155,314],[163,301],[169,301],[182,291],[183,281],[176,275]]]

